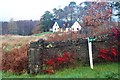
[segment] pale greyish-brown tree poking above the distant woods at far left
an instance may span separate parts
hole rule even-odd
[[[13,18],[10,19],[8,23],[8,33],[9,34],[18,34],[18,26]]]

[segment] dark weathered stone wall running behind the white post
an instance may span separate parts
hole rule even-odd
[[[114,39],[108,35],[95,37],[92,42],[93,61],[97,61],[99,54],[98,48],[109,48],[110,42]],[[116,46],[112,45],[112,46]],[[88,41],[87,39],[76,39],[59,42],[46,42],[42,39],[31,42],[28,49],[28,73],[41,73],[43,59],[52,58],[56,54],[63,52],[75,53],[79,61],[89,62]],[[89,63],[88,63],[89,64]]]

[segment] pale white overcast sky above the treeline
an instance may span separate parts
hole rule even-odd
[[[0,0],[0,21],[39,20],[45,11],[64,8],[71,1],[78,5],[86,0]]]

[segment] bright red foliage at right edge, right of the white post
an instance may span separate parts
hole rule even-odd
[[[117,28],[111,28],[111,31],[113,34],[111,34],[110,37],[113,37],[113,39],[115,40],[114,42],[110,42],[110,48],[99,48],[98,51],[100,52],[100,54],[98,55],[98,57],[105,59],[106,61],[117,61],[119,57],[120,31]],[[118,48],[113,47],[115,41],[117,41]]]

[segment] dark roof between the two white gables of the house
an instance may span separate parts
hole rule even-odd
[[[65,22],[65,21],[62,21],[62,20],[55,20],[54,24],[55,24],[55,22],[57,22],[60,28],[70,28],[75,23],[75,21],[76,20]]]

